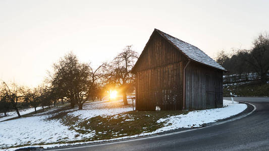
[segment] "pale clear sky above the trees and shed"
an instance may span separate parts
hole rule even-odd
[[[73,51],[93,66],[126,45],[139,54],[154,28],[217,52],[252,47],[269,30],[269,1],[0,1],[0,80],[39,85]]]

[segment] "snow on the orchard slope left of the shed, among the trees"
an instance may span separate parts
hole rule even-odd
[[[132,101],[128,99],[128,103],[131,104],[131,102]],[[83,105],[83,110],[78,110],[78,108],[70,109],[68,111],[73,112],[68,113],[68,115],[79,116],[81,120],[85,120],[95,116],[105,117],[133,110],[131,106],[123,107],[122,105],[122,99],[114,101],[108,101],[105,99],[103,101],[86,103]],[[52,110],[55,109],[51,109],[50,111]],[[34,108],[30,108],[22,111],[21,115],[33,111]],[[10,114],[8,118],[16,116],[17,113]],[[78,133],[75,130],[69,129],[68,126],[63,125],[60,120],[47,120],[48,117],[48,115],[39,113],[32,117],[0,122],[0,150],[4,147],[11,147],[21,144],[35,144],[41,142],[57,143],[58,141],[81,140],[84,138],[93,137],[96,134],[94,130],[89,129],[87,129],[87,131],[89,131],[88,133]],[[5,120],[5,118],[0,118],[0,120]]]

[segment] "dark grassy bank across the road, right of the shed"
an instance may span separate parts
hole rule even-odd
[[[224,96],[230,97],[230,92],[235,95],[244,97],[269,97],[269,84],[251,82],[242,85],[224,86]]]

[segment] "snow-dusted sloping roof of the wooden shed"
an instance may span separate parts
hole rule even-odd
[[[197,61],[199,63],[202,63],[202,64],[212,66],[214,68],[218,68],[218,69],[227,71],[218,62],[214,61],[212,58],[210,58],[207,54],[205,54],[199,48],[197,48],[197,47],[195,47],[187,42],[184,42],[176,37],[173,37],[167,33],[164,33],[160,30],[155,29],[155,31],[158,32],[160,35],[162,35],[170,43],[175,45],[176,48],[181,50],[190,59]]]

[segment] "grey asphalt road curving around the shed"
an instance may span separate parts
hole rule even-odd
[[[61,150],[269,150],[269,98],[234,100],[249,102],[256,110],[238,120],[192,131]]]

